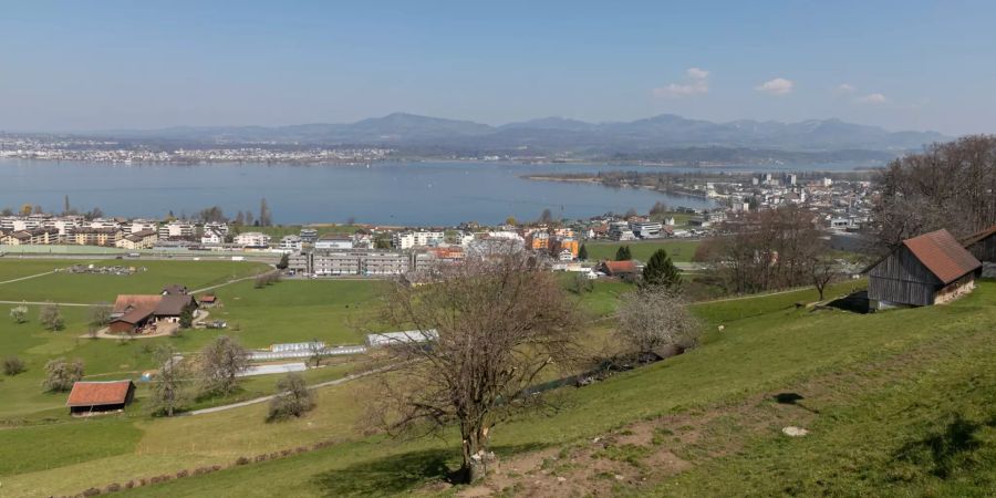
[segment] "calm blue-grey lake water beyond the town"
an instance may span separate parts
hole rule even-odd
[[[498,224],[508,216],[588,218],[629,208],[702,208],[706,199],[594,184],[533,181],[521,175],[634,169],[606,165],[495,163],[374,163],[342,165],[116,165],[110,163],[0,159],[0,208],[23,204],[61,211],[100,207],[108,216],[160,218],[169,210],[195,214],[220,206],[226,215],[259,211],[266,198],[278,224],[341,222],[454,226]],[[678,168],[664,170],[678,172]]]

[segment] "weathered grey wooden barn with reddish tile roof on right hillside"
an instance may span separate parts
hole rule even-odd
[[[952,301],[975,288],[982,263],[947,230],[903,240],[869,267],[869,308],[926,307]]]

